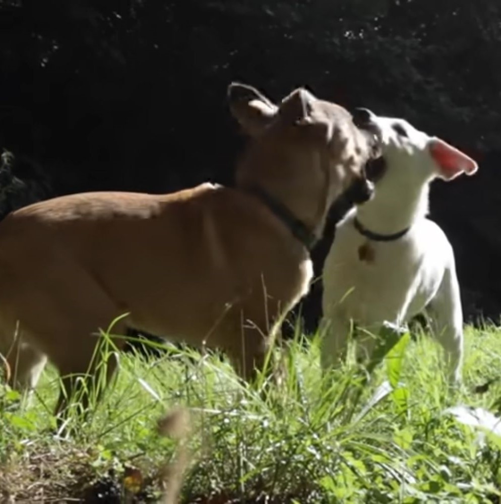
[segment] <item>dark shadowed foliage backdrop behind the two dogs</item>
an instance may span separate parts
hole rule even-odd
[[[431,218],[454,246],[467,317],[498,321],[499,0],[0,0],[0,16],[0,147],[15,155],[0,217],[58,194],[231,183],[242,138],[228,83],[276,100],[305,85],[479,162],[474,177],[433,183]],[[308,330],[320,289],[302,307]]]

